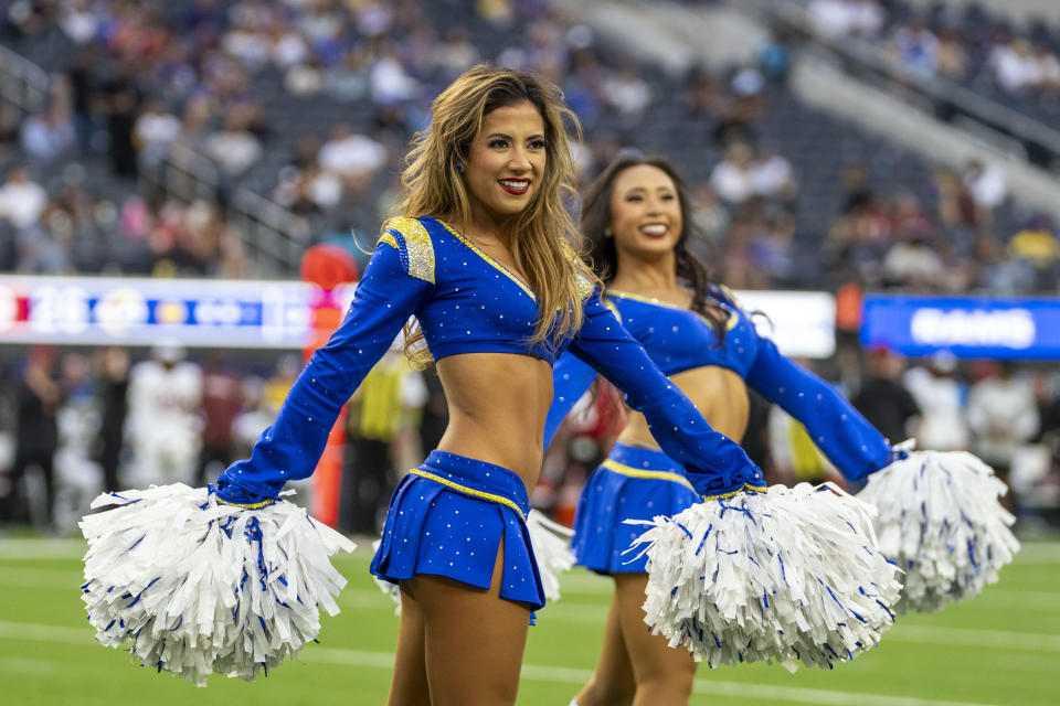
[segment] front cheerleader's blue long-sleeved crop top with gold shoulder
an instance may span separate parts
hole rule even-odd
[[[582,282],[583,323],[561,351],[566,347],[626,393],[701,494],[763,488],[761,471],[743,449],[710,428],[622,328],[591,282]],[[526,282],[445,223],[428,216],[389,221],[342,323],[312,354],[251,458],[233,463],[218,479],[218,498],[264,503],[287,481],[309,477],[342,405],[410,317],[420,322],[435,360],[499,352],[551,363],[547,346],[529,343],[537,313],[536,296]]]

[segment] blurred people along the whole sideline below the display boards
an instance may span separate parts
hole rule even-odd
[[[1048,366],[958,362],[940,354],[905,361],[884,347],[849,371],[801,361],[829,376],[897,443],[969,450],[1006,479],[1006,500],[1025,532],[1060,525],[1060,374]],[[68,532],[99,492],[150,483],[201,486],[246,458],[300,371],[225,354],[190,355],[162,341],[142,360],[121,347],[33,347],[3,368],[0,395],[0,532],[35,525]],[[845,485],[802,425],[751,393],[742,440],[768,482]],[[600,383],[551,445],[534,506],[572,522],[577,495],[625,420],[622,395]],[[433,371],[392,350],[354,394],[346,417],[339,524],[373,534],[402,472],[434,448],[447,413]],[[311,482],[298,483],[309,503]],[[857,488],[851,488],[851,491]]]

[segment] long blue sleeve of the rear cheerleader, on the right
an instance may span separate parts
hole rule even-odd
[[[862,480],[898,458],[887,439],[835,387],[759,339],[748,385],[806,427],[810,438],[848,480]]]

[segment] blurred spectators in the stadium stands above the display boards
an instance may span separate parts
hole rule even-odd
[[[783,38],[763,45],[754,65],[674,81],[561,20],[545,0],[10,4],[2,35],[67,51],[50,99],[24,119],[8,108],[0,120],[0,270],[253,274],[227,210],[233,189],[247,183],[305,218],[308,244],[336,239],[360,256],[348,234],[364,232],[370,244],[393,207],[398,164],[432,97],[474,63],[494,61],[561,84],[584,128],[575,145],[583,183],[619,150],[659,143],[650,131],[660,111],[681,125],[707,120],[698,149],[708,169],[690,174],[697,221],[709,236],[702,252],[734,286],[819,286],[820,270],[799,266],[797,254],[827,238],[820,269],[833,287],[857,278],[868,288],[1060,290],[1057,224],[1035,213],[996,218],[1013,202],[993,165],[924,165],[920,183],[899,186],[851,161],[844,183],[805,186],[762,128],[789,61]],[[808,12],[826,33],[890,41],[916,21],[901,7],[813,0]],[[130,181],[179,162],[182,150],[215,164],[212,197],[186,203]],[[100,193],[98,163],[118,188]],[[844,190],[827,234],[807,232],[827,214],[801,211],[801,196],[816,205],[817,191]]]

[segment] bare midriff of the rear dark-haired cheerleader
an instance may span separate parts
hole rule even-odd
[[[670,382],[685,393],[702,413],[714,431],[739,442],[748,430],[748,387],[736,373],[716,365],[697,367],[670,376]],[[648,430],[648,422],[638,411],[629,418],[618,441],[645,449],[658,449]]]

